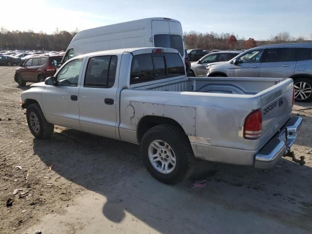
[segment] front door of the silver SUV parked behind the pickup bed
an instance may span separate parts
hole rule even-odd
[[[252,50],[237,58],[230,68],[231,77],[259,77],[263,49]]]

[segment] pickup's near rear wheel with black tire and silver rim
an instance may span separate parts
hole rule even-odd
[[[141,157],[147,171],[165,184],[176,184],[193,170],[194,154],[190,141],[175,125],[160,124],[150,128],[141,141]]]

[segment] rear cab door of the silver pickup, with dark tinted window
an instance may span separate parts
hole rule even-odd
[[[117,138],[117,56],[91,57],[79,89],[79,122],[84,132]]]

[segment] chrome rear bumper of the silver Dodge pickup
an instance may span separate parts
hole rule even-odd
[[[302,118],[294,116],[285,124],[287,140],[273,137],[255,156],[254,167],[259,169],[272,168],[275,163],[286,155],[292,147],[302,124]]]

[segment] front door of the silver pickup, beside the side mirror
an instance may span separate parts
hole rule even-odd
[[[65,64],[55,75],[57,85],[47,85],[41,99],[45,117],[49,123],[80,130],[79,87],[83,59]]]

